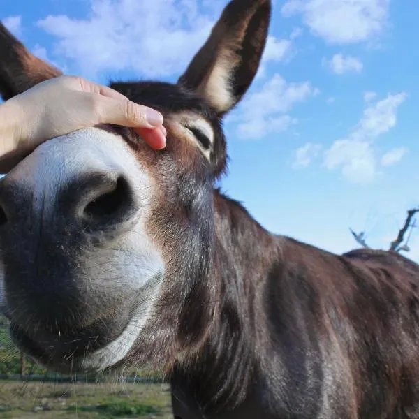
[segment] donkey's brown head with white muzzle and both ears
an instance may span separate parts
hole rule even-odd
[[[159,110],[167,147],[129,128],[43,143],[0,182],[3,311],[23,351],[57,371],[169,362],[214,316],[214,180],[223,116],[251,84],[269,0],[233,0],[177,84],[110,84]],[[0,27],[0,91],[60,72]]]

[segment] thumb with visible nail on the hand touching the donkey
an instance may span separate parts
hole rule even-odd
[[[138,128],[157,128],[163,124],[160,112],[119,98],[96,96],[95,110],[103,124],[115,124]]]

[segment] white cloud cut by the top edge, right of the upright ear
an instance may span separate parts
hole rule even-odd
[[[282,13],[302,15],[312,33],[328,43],[358,43],[381,34],[389,3],[390,0],[288,0]]]

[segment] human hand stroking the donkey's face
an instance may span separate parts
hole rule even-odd
[[[83,78],[64,75],[47,80],[1,107],[7,111],[8,124],[13,126],[9,129],[11,135],[1,135],[1,140],[8,143],[1,145],[0,155],[29,154],[45,140],[97,124],[130,126],[150,147],[166,146],[166,129],[160,112]],[[1,117],[1,124],[3,120]]]

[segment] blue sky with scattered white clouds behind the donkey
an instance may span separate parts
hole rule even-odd
[[[3,0],[1,19],[66,73],[175,81],[226,0]],[[419,205],[418,1],[274,1],[247,98],[226,120],[223,189],[274,233],[386,248]],[[419,230],[410,253],[419,260]]]

